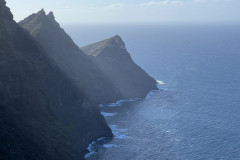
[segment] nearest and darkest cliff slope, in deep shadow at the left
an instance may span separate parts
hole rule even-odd
[[[112,136],[99,108],[13,21],[4,0],[0,68],[0,159],[83,159],[92,140]]]

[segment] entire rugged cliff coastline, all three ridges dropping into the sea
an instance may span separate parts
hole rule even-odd
[[[119,36],[83,50],[52,12],[17,24],[0,0],[0,159],[81,160],[112,136],[97,104],[157,89]]]

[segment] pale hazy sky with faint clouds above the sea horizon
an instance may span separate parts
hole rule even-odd
[[[60,23],[240,22],[240,0],[6,0],[15,20],[44,8]]]

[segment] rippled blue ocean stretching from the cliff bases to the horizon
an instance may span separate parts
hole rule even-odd
[[[239,160],[240,25],[64,26],[85,45],[122,36],[159,84],[145,99],[101,106],[115,138],[88,160]]]

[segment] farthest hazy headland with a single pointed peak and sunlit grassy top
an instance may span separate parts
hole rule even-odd
[[[126,98],[142,98],[156,90],[156,81],[136,65],[120,36],[81,47]]]

